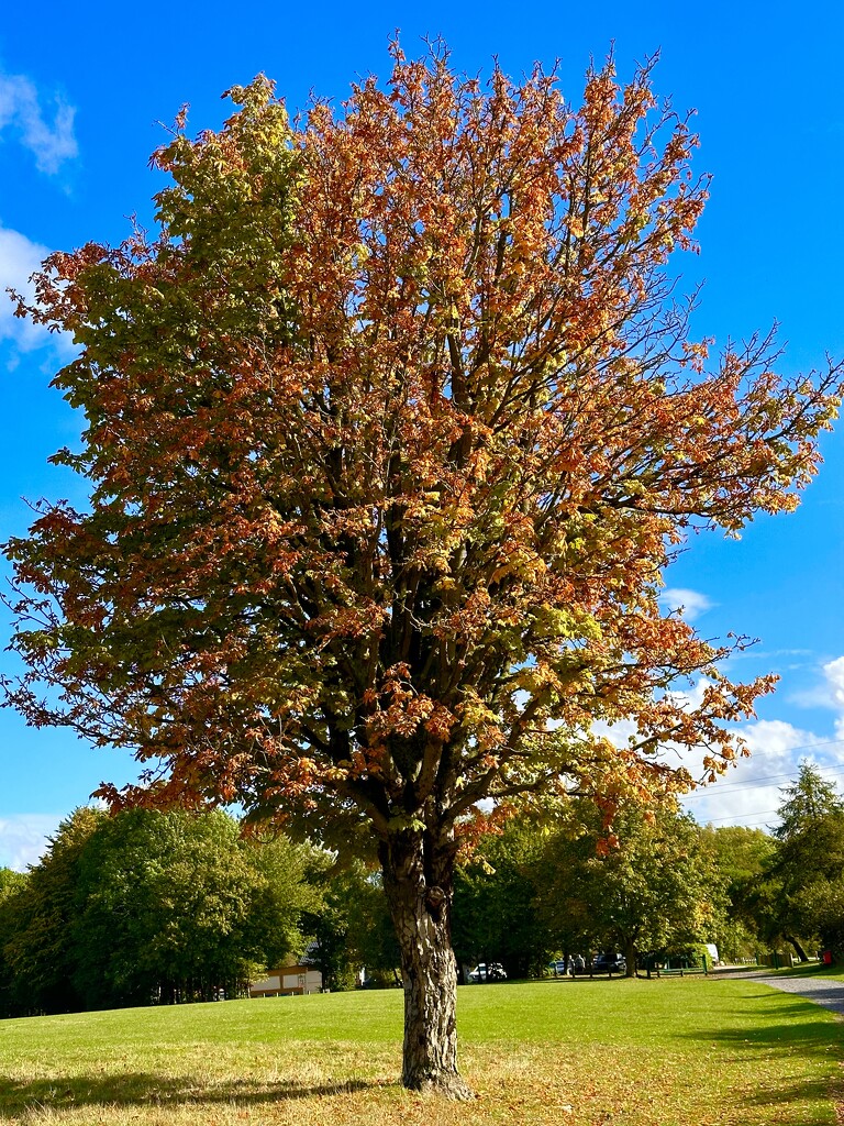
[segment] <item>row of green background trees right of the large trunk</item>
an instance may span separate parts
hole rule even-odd
[[[645,957],[715,942],[724,959],[818,949],[844,957],[844,802],[810,763],[783,789],[771,833],[701,826],[675,808],[628,806],[608,842],[600,811],[569,804],[487,837],[458,872],[455,949],[536,973],[558,954]]]

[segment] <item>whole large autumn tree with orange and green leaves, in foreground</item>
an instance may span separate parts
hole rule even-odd
[[[690,337],[667,261],[707,184],[649,68],[590,71],[574,108],[540,69],[482,86],[395,47],[386,89],[295,127],[264,79],[231,96],[156,153],[154,236],[37,279],[29,314],[80,349],[57,461],[90,504],[7,546],[8,695],[135,749],[116,805],[236,798],[374,839],[404,1082],[460,1097],[456,829],[484,798],[682,789],[668,739],[707,774],[733,757],[769,681],[730,683],[661,573],[693,525],[794,506],[838,372]],[[697,676],[691,706],[671,689]]]

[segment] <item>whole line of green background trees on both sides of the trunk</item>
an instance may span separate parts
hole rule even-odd
[[[0,869],[0,1015],[242,994],[307,949],[329,989],[398,980],[380,877],[222,812],[77,810],[27,874]],[[646,957],[717,944],[724,958],[790,946],[844,953],[844,803],[803,765],[780,826],[698,825],[676,808],[598,806],[511,817],[459,866],[458,962],[541,974],[560,955]]]

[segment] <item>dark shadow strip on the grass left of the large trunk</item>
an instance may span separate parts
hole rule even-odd
[[[191,1106],[200,1103],[259,1105],[290,1099],[351,1094],[396,1084],[378,1080],[338,1080],[304,1083],[294,1080],[233,1079],[224,1082],[190,1075],[131,1072],[111,1075],[20,1080],[0,1074],[0,1112],[16,1118],[34,1108],[68,1110],[104,1106]]]

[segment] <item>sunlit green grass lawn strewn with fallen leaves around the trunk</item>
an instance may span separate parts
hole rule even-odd
[[[841,1024],[752,980],[464,986],[458,1007],[478,1098],[456,1105],[397,1084],[397,991],[0,1021],[0,1124],[836,1123]]]

